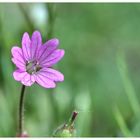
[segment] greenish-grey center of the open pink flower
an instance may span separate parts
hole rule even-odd
[[[41,67],[39,66],[39,63],[37,61],[29,61],[26,64],[26,71],[29,74],[34,74],[36,72],[38,72],[41,69]]]

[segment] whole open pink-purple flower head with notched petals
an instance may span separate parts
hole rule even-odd
[[[22,37],[22,48],[12,48],[12,62],[17,70],[13,76],[25,86],[34,83],[45,88],[54,88],[55,82],[62,82],[64,76],[51,67],[62,59],[64,50],[58,49],[59,40],[51,39],[42,44],[40,32],[35,31],[30,39],[27,32]]]

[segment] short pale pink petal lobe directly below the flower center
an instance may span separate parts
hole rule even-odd
[[[24,77],[21,79],[21,83],[25,86],[31,86],[35,82],[35,79],[32,75],[26,72]]]

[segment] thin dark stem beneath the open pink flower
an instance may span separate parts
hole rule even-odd
[[[20,94],[20,101],[19,101],[19,135],[22,135],[23,132],[23,125],[24,125],[24,100],[25,100],[25,86],[22,85],[21,94]]]

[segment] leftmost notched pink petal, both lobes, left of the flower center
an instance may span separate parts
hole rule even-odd
[[[22,49],[19,48],[19,47],[13,47],[11,49],[11,52],[12,52],[12,61],[13,63],[21,70],[25,70],[25,60],[24,60],[24,57],[23,57],[23,53],[22,53]]]

